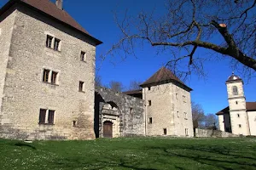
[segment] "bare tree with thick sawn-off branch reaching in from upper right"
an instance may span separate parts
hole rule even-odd
[[[203,61],[220,54],[232,59],[234,68],[238,63],[244,65],[244,73],[250,76],[256,71],[255,6],[256,0],[169,0],[162,16],[154,11],[137,17],[127,11],[125,16],[115,14],[122,36],[107,55],[118,52],[127,57],[134,54],[137,44],[149,44],[169,50],[172,59],[167,65],[177,76],[187,76],[191,71],[203,75]],[[200,48],[213,53],[195,55]],[[180,50],[187,54],[177,55]]]

